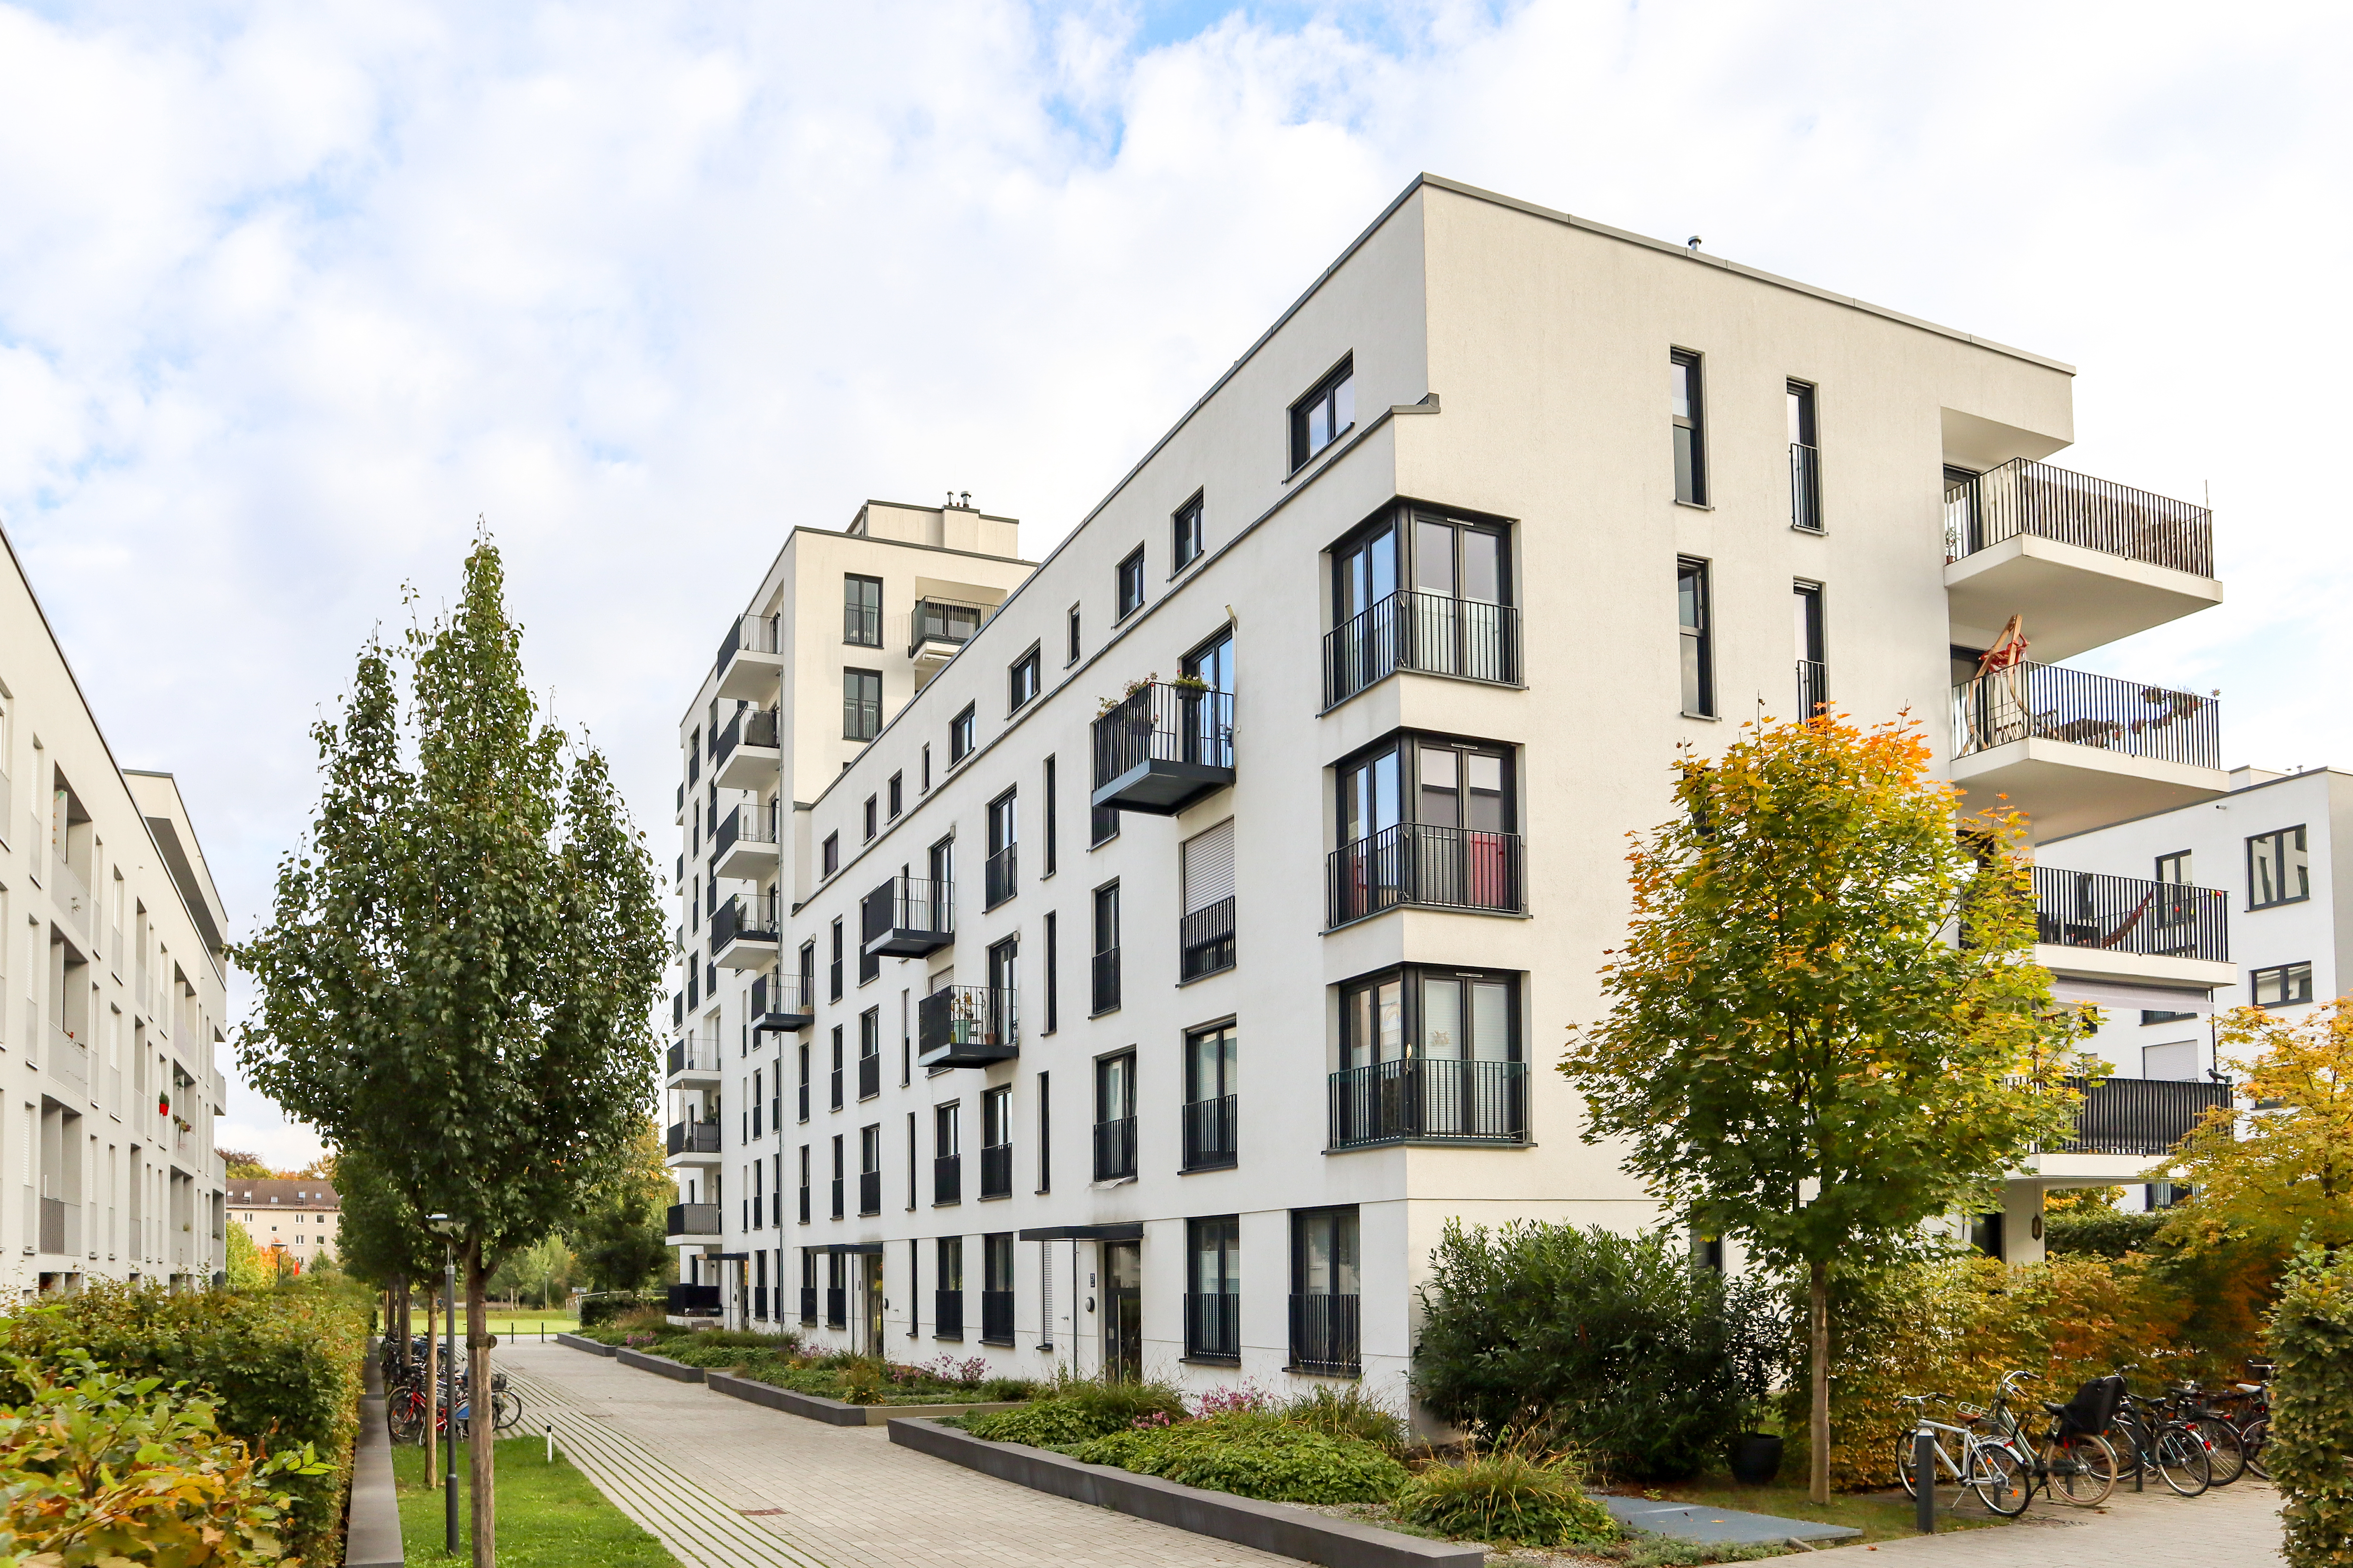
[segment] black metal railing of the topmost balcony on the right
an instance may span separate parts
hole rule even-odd
[[[2214,576],[2214,515],[2202,505],[2028,458],[1946,487],[1946,559],[1977,555],[2019,534]]]

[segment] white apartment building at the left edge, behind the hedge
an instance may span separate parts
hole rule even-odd
[[[0,534],[5,543],[5,534]],[[115,762],[7,545],[0,576],[0,1255],[14,1295],[226,1267],[228,914],[169,773]]]

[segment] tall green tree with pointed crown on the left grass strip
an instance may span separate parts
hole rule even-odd
[[[539,719],[487,538],[459,604],[395,649],[369,639],[313,736],[308,842],[280,860],[271,926],[235,947],[259,990],[238,1058],[414,1208],[452,1215],[487,1378],[489,1272],[579,1211],[654,1091],[652,858],[605,757]],[[489,1403],[475,1408],[473,1556],[489,1568]]]

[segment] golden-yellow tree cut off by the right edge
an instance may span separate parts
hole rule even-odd
[[[2353,994],[2299,1018],[2240,1006],[2214,1025],[2252,1110],[2219,1105],[2191,1128],[2167,1175],[2195,1194],[2167,1237],[2228,1237],[2280,1251],[2353,1246]]]

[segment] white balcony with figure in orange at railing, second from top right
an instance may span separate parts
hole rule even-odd
[[[2214,799],[2221,708],[2057,665],[1991,670],[1953,686],[1953,783],[1969,811],[2024,811],[2035,839]]]

